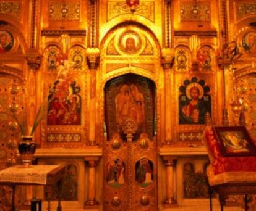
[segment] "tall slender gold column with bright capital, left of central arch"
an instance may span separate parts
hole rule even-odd
[[[98,48],[87,48],[87,65],[90,69],[90,113],[89,113],[89,143],[88,145],[96,145],[95,141],[95,125],[96,125],[96,69],[99,65],[100,50]]]

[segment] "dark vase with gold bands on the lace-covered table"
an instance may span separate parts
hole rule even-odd
[[[32,159],[36,151],[36,143],[33,141],[33,136],[22,136],[18,149],[22,164],[25,167],[29,167],[32,164]]]

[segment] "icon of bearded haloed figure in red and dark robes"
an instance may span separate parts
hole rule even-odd
[[[205,114],[211,113],[210,96],[205,95],[202,85],[197,82],[186,86],[186,95],[179,97],[179,123],[204,124]]]

